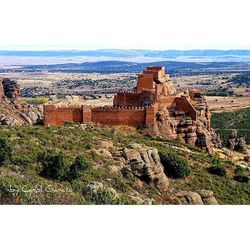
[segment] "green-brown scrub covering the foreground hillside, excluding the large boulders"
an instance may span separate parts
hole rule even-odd
[[[250,204],[250,184],[235,178],[231,162],[218,161],[180,142],[144,136],[133,130],[82,129],[79,125],[2,126],[0,138],[4,138],[12,151],[9,154],[12,156],[0,166],[2,204],[135,204],[131,198],[134,193],[148,199],[148,203],[153,200],[153,204],[173,204],[171,191],[161,194],[133,175],[123,176],[117,170],[116,157],[98,153],[102,141],[112,143],[114,148],[110,151],[114,153],[115,148],[131,143],[157,148],[165,171],[169,166],[167,160],[169,163],[172,159],[170,164],[178,166],[176,175],[172,175],[175,178],[169,177],[171,190],[208,189],[214,192],[219,204]],[[216,162],[220,162],[226,176],[208,172]],[[84,188],[92,182],[102,183],[103,188],[88,196]]]

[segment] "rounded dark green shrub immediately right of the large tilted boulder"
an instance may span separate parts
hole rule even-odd
[[[160,152],[160,158],[167,176],[178,179],[190,174],[188,161],[176,153]]]

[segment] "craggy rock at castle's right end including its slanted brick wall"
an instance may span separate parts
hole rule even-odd
[[[176,94],[175,94],[176,95]],[[221,147],[220,137],[211,129],[211,113],[204,93],[186,90],[175,99],[159,102],[153,134],[170,140],[179,140],[208,153]]]

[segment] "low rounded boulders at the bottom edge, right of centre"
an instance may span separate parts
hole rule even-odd
[[[181,205],[218,205],[210,190],[200,190],[198,192],[180,191],[176,194],[176,201]]]

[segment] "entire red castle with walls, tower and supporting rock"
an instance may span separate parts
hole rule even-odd
[[[138,75],[137,86],[118,92],[113,106],[44,106],[46,126],[65,122],[99,123],[108,126],[147,127],[153,134],[179,139],[211,150],[210,112],[201,92],[176,92],[164,67],[147,67]]]

